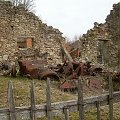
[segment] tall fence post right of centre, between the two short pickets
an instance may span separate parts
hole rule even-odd
[[[80,120],[84,119],[84,101],[83,101],[83,85],[82,85],[82,77],[78,79],[78,110]]]

